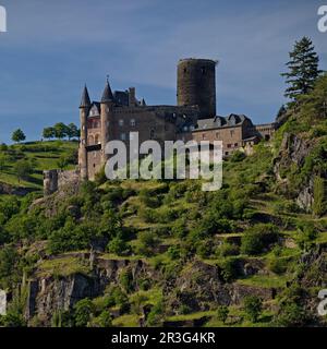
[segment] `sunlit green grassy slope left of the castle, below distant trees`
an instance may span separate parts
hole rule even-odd
[[[35,190],[43,189],[43,171],[58,168],[59,158],[76,151],[77,147],[77,142],[69,141],[31,142],[12,145],[10,151],[14,153],[0,171],[0,182]],[[21,158],[33,160],[35,168],[27,180],[19,181],[14,172],[14,165]],[[64,169],[72,168],[74,168],[73,165]]]

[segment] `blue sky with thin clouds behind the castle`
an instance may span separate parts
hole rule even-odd
[[[78,122],[82,87],[100,98],[136,87],[147,104],[175,104],[180,58],[211,58],[217,112],[271,121],[284,101],[284,63],[295,39],[310,36],[327,70],[327,33],[317,9],[327,0],[0,0],[0,142],[22,128]]]

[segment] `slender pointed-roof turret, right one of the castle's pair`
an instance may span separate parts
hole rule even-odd
[[[114,98],[112,91],[107,79],[105,91],[101,98],[101,163],[106,164],[108,156],[105,154],[106,144],[110,139],[113,139],[111,134],[112,128],[110,122],[112,122]]]

